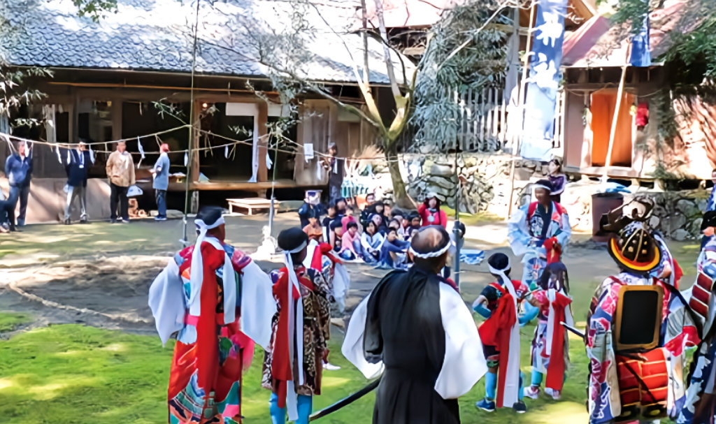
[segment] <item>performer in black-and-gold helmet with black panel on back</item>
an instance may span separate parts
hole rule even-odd
[[[684,405],[684,350],[700,330],[679,291],[650,275],[662,255],[644,226],[652,206],[603,225],[619,232],[607,249],[621,272],[596,290],[587,316],[590,423],[674,419]]]

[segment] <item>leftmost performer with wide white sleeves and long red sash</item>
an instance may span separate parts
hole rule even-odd
[[[241,421],[241,373],[253,342],[269,347],[276,304],[271,281],[227,245],[221,207],[196,216],[195,245],[181,250],[150,287],[163,343],[176,334],[169,378],[169,423]],[[253,341],[252,341],[253,340]]]

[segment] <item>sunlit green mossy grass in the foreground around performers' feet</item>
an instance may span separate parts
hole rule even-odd
[[[0,330],[11,330],[26,319],[0,314]],[[522,329],[522,369],[528,376],[533,330],[533,326]],[[314,410],[367,383],[340,354],[340,342],[339,337],[331,341],[331,362],[343,368],[324,373],[324,394],[314,400]],[[484,413],[474,407],[484,395],[480,382],[460,399],[463,423],[584,422],[586,355],[579,340],[573,340],[570,352],[573,365],[561,401],[528,399],[524,415],[512,410]],[[0,417],[6,424],[165,423],[171,355],[172,347],[162,347],[158,337],[82,325],[53,325],[0,340]],[[246,424],[269,420],[269,391],[260,386],[262,357],[257,350],[244,380]],[[371,393],[320,422],[370,423],[373,402]]]

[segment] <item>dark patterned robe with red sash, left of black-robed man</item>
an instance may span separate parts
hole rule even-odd
[[[288,285],[289,274],[286,268],[271,274],[274,282],[274,297],[278,305],[278,312],[274,316],[271,343],[266,350],[263,361],[263,388],[271,390],[278,395],[279,408],[286,408],[286,394],[289,380],[294,381],[296,395],[320,395],[321,372],[323,370],[323,357],[327,354],[326,340],[330,336],[330,289],[321,272],[305,267],[296,267],[296,277],[299,279],[300,294],[293,291],[294,304],[299,299],[303,302],[303,333],[304,348],[302,363],[296,363],[297,358],[289,359],[289,320]],[[295,309],[294,309],[295,310]],[[292,337],[291,340],[294,340]],[[303,373],[303,384],[299,384],[298,369]],[[290,395],[290,393],[289,393]]]

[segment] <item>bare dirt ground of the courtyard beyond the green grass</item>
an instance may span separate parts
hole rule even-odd
[[[228,242],[253,252],[261,242],[265,220],[266,217],[228,217]],[[296,214],[276,218],[276,230],[294,225],[298,225]],[[19,237],[0,238],[0,310],[31,314],[34,321],[27,327],[84,323],[154,334],[147,292],[154,277],[180,248],[180,221],[25,228]],[[486,257],[493,252],[510,255],[512,277],[519,279],[522,265],[507,247],[505,234],[502,222],[470,227],[465,247],[486,250]],[[576,236],[575,240],[587,238]],[[688,270],[697,250],[685,246],[674,248]],[[599,282],[616,272],[604,250],[572,247],[563,261],[570,272],[572,295],[580,305],[589,302]],[[281,266],[258,264],[264,270]],[[348,264],[347,268],[352,282],[347,308],[352,310],[386,271],[358,264]],[[686,277],[684,282],[690,285],[689,280],[692,279]],[[475,299],[491,281],[486,260],[481,265],[462,265],[460,285],[465,300]]]

